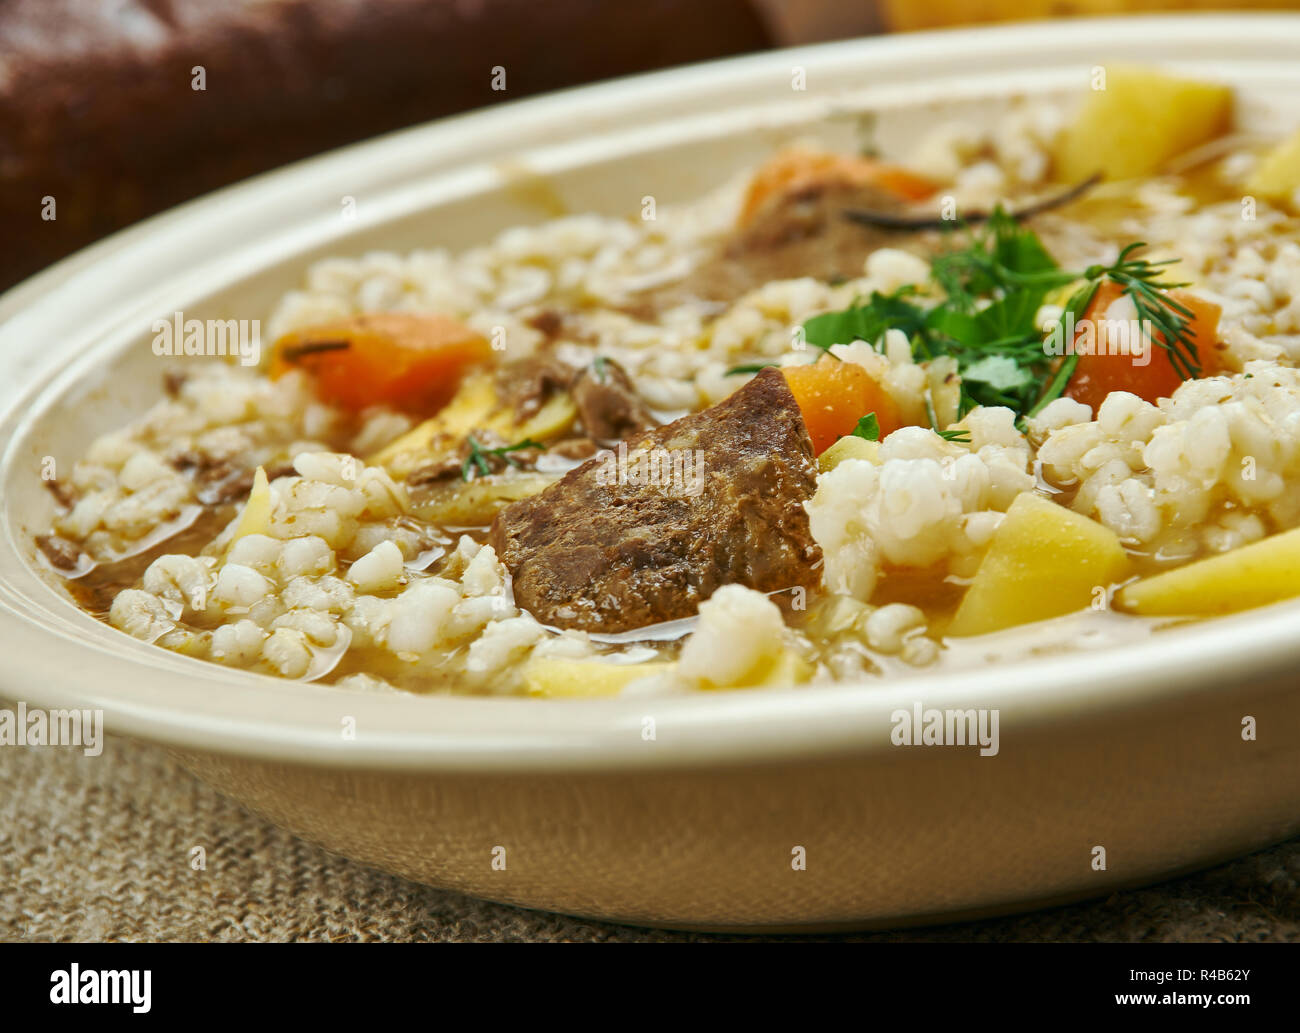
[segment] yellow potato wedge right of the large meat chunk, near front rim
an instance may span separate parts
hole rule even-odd
[[[1128,570],[1119,538],[1040,495],[1017,496],[957,607],[950,635],[983,635],[1092,604]]]

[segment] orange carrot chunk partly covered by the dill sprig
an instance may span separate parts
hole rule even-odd
[[[1154,403],[1156,399],[1169,398],[1183,382],[1170,361],[1169,350],[1158,343],[1150,348],[1150,361],[1145,365],[1135,363],[1132,355],[1110,353],[1114,348],[1102,343],[1102,334],[1096,331],[1096,327],[1106,318],[1106,311],[1122,294],[1123,287],[1106,281],[1097,287],[1096,295],[1080,320],[1080,327],[1084,321],[1089,321],[1095,329],[1092,353],[1079,356],[1079,364],[1065,389],[1065,395],[1091,405],[1093,414],[1112,391],[1128,391]],[[1213,376],[1218,370],[1214,344],[1219,316],[1223,311],[1213,301],[1206,301],[1188,291],[1173,290],[1169,291],[1169,296],[1191,309],[1192,320],[1188,324],[1188,334],[1196,346],[1201,365],[1200,376]],[[1083,333],[1082,329],[1076,331],[1076,346]],[[1156,334],[1156,340],[1161,342],[1164,337]],[[1102,351],[1108,353],[1100,353]]]

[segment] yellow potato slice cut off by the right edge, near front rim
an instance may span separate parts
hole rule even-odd
[[[1150,617],[1209,617],[1300,595],[1300,528],[1135,581],[1115,606]]]

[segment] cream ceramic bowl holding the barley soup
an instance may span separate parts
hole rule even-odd
[[[1239,87],[1300,122],[1300,18],[1057,22],[880,38],[507,104],[315,159],[118,234],[0,299],[0,687],[100,707],[289,829],[434,885],[699,928],[827,928],[1110,893],[1300,830],[1300,608],[970,674],[675,699],[355,695],[144,646],[81,612],[34,559],[44,456],[73,461],[160,394],[150,325],[265,317],[308,262],[454,248],[541,213],[693,198],[810,130],[887,142],[936,108],[996,118],[1078,92],[1104,61]],[[805,91],[792,90],[802,68]],[[344,196],[356,218],[341,218]],[[1001,751],[890,743],[890,713],[996,707]],[[1258,739],[1243,742],[1252,716]],[[355,738],[342,722],[352,719]],[[644,734],[647,719],[654,738]],[[493,865],[506,847],[504,871]],[[1106,848],[1097,871],[1093,848]],[[796,847],[805,871],[792,867]]]

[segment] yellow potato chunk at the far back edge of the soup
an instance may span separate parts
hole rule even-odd
[[[1170,159],[1223,135],[1232,121],[1232,90],[1141,68],[1108,68],[1056,146],[1056,173],[1076,182],[1150,175]]]

